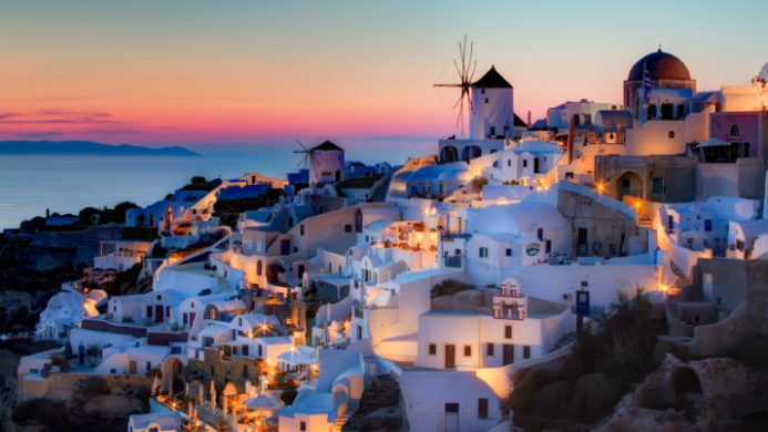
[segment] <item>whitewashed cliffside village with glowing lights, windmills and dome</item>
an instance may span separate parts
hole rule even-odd
[[[515,372],[567,354],[621,294],[687,352],[729,352],[768,328],[767,82],[768,65],[699,91],[659,49],[622,103],[531,122],[491,68],[467,86],[468,133],[434,155],[366,165],[324,142],[286,178],[131,208],[110,229],[156,239],[89,246],[37,327],[63,347],[21,360],[21,399],[57,376],[136,376],[150,412],[129,432],[337,431],[388,377],[412,431],[509,430]],[[213,215],[269,194],[232,224]],[[100,289],[130,268],[151,290]]]

